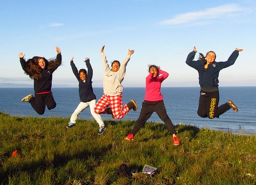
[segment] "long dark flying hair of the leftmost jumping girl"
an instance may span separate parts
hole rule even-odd
[[[59,66],[59,62],[56,59],[49,59],[45,57],[34,56],[32,59],[28,59],[25,73],[29,75],[30,78],[39,80],[41,78],[42,68],[38,65],[38,61],[43,59],[45,61],[45,69],[51,70],[51,68],[56,68]]]

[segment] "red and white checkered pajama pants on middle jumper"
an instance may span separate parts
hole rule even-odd
[[[122,94],[117,96],[104,94],[96,103],[94,112],[97,114],[105,113],[106,108],[109,106],[111,107],[115,119],[123,118],[130,111],[126,104],[123,106]]]

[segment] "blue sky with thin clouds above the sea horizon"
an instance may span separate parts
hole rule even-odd
[[[254,0],[5,1],[0,11],[0,87],[33,87],[18,53],[25,53],[26,59],[49,59],[56,56],[56,46],[63,65],[54,73],[53,87],[78,86],[72,56],[79,69],[86,67],[84,57],[90,57],[93,87],[102,87],[102,45],[109,62],[121,62],[128,49],[135,51],[124,87],[144,87],[149,64],[169,73],[165,87],[199,86],[197,71],[185,64],[194,45],[204,54],[215,51],[216,61],[243,49],[236,63],[220,72],[219,85],[255,86],[255,13]]]

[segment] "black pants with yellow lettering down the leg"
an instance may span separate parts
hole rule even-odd
[[[202,118],[219,118],[221,114],[228,111],[230,106],[227,103],[219,105],[219,91],[206,92],[200,90],[200,98],[197,114]]]

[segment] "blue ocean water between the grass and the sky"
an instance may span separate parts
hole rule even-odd
[[[103,88],[93,88],[99,99]],[[220,115],[220,118],[200,118],[197,115],[199,87],[162,87],[161,89],[167,114],[174,125],[189,124],[199,128],[221,130],[238,134],[256,134],[256,87],[219,87],[219,105],[232,100],[239,111],[232,109]],[[80,100],[77,88],[52,88],[57,107],[52,110],[46,108],[44,115],[37,114],[27,102],[20,100],[28,94],[34,94],[33,88],[0,88],[0,111],[9,115],[22,117],[70,117],[77,108]],[[124,87],[123,104],[134,99],[138,110],[130,111],[122,120],[136,120],[140,114],[144,100],[144,87]],[[93,119],[90,109],[87,108],[79,115],[80,119]],[[103,120],[112,119],[110,115],[102,115]],[[156,113],[147,122],[160,122]]]

